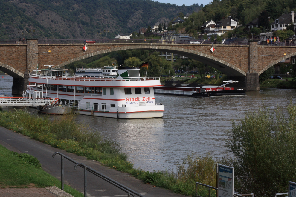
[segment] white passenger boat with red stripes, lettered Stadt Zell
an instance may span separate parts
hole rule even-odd
[[[160,118],[164,106],[156,103],[153,87],[161,86],[159,77],[140,77],[138,67],[44,69],[29,75],[24,97],[41,91],[43,97],[58,98],[60,106],[75,113],[111,118]],[[114,72],[115,71],[115,72]]]

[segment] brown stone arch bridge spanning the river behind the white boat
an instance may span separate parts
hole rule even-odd
[[[164,43],[103,43],[88,44],[84,51],[81,44],[38,44],[36,39],[26,44],[0,44],[0,70],[13,77],[12,94],[20,95],[26,90],[28,75],[44,69],[43,65],[63,67],[71,62],[112,51],[144,49],[169,52],[201,61],[239,81],[235,88],[247,91],[259,90],[259,75],[274,64],[296,55],[293,46],[259,46],[257,42],[245,45],[216,44],[164,44]],[[51,53],[42,53],[51,50]],[[37,54],[38,53],[38,54]],[[286,53],[286,55],[284,55]],[[272,55],[272,56],[271,56]]]

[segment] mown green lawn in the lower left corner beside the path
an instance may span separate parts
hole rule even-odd
[[[61,188],[61,181],[41,169],[39,161],[28,154],[18,154],[0,145],[0,188]],[[65,192],[82,197],[83,194],[65,185]]]

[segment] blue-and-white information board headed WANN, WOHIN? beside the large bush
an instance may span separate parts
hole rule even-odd
[[[218,164],[218,197],[233,197],[234,168]]]

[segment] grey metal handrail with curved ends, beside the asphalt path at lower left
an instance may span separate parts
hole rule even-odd
[[[75,164],[74,169],[77,168],[77,166],[83,167],[84,168],[84,197],[86,197],[86,171],[89,171],[90,173],[102,178],[104,181],[107,181],[108,183],[114,185],[115,187],[118,187],[120,190],[123,190],[127,193],[127,196],[130,197],[130,195],[132,195],[134,197],[134,195],[140,196],[140,197],[145,197],[141,194],[139,194],[138,192],[135,192],[134,190],[124,186],[123,184],[118,183],[117,181],[114,181],[112,178],[109,178],[105,175],[103,175],[102,173],[99,173],[98,171],[92,169],[91,167],[86,166],[85,164],[82,163],[78,163],[77,161],[65,156],[64,154],[60,153],[60,152],[55,152],[52,157],[54,157],[56,154],[61,156],[61,170],[62,170],[62,175],[61,175],[61,183],[62,183],[62,190],[64,190],[64,158],[68,159],[69,161],[73,162]]]

